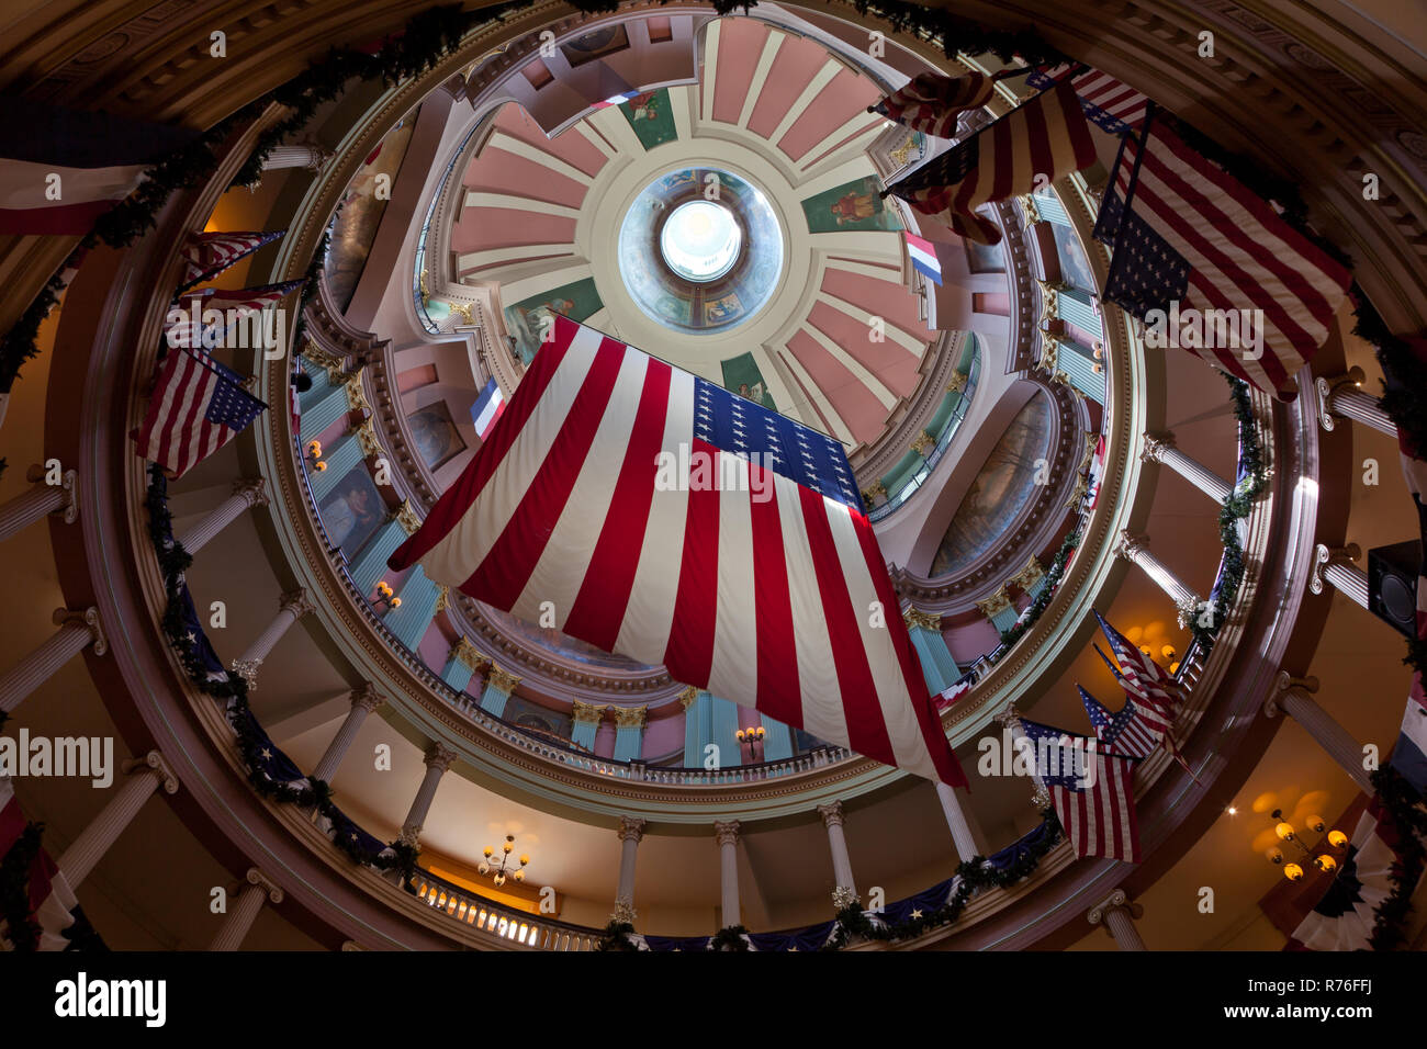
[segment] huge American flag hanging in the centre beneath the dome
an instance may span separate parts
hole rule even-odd
[[[388,564],[821,739],[966,782],[842,447],[557,317]],[[548,621],[548,619],[547,619]]]

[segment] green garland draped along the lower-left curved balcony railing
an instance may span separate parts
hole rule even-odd
[[[188,639],[188,629],[184,624],[183,574],[193,564],[193,555],[183,548],[183,544],[171,538],[173,517],[168,512],[163,470],[150,464],[148,471],[148,491],[144,500],[148,510],[148,539],[164,577],[166,604],[160,627],[168,645],[183,664],[193,686],[204,695],[224,702],[228,725],[233,728],[238,754],[253,789],[270,801],[314,809],[327,819],[335,821],[341,812],[332,804],[332,788],[327,782],[311,779],[307,786],[294,786],[277,782],[263,774],[260,751],[270,741],[258,735],[254,728],[257,722],[248,706],[248,682],[237,674],[230,675],[227,681],[208,679],[208,671],[198,658],[195,642]],[[415,891],[412,879],[417,873],[417,849],[414,846],[395,841],[388,846],[391,855],[371,856],[344,835],[334,833],[331,841],[352,862],[365,863],[378,871],[400,871],[402,888],[408,892]]]

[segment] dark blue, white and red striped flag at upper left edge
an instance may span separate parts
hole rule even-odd
[[[0,234],[80,235],[198,131],[0,97]]]

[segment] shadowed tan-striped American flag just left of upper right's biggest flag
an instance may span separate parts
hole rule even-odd
[[[1057,84],[886,188],[962,237],[1000,243],[983,204],[1030,193],[1095,163],[1095,138],[1070,84]],[[943,214],[945,213],[945,217]]]

